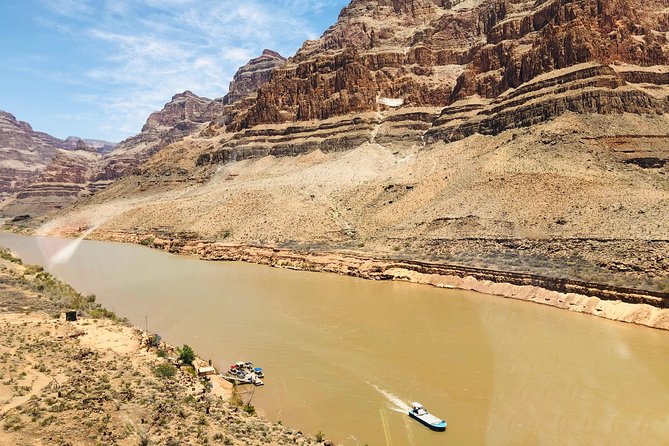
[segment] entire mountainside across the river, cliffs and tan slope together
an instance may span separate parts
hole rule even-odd
[[[353,0],[54,227],[662,289],[667,33],[669,0]]]

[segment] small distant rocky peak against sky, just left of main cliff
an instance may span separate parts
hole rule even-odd
[[[286,58],[281,54],[272,50],[264,50],[260,57],[251,59],[237,70],[230,82],[228,94],[223,98],[223,103],[229,105],[255,96],[258,89],[272,79],[272,72],[285,63]]]

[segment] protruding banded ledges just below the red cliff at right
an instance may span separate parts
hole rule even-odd
[[[460,102],[443,109],[426,134],[428,142],[452,142],[475,133],[497,135],[505,130],[529,127],[567,112],[587,114],[649,114],[669,112],[669,88],[633,84],[626,79],[641,76],[619,73],[615,66],[580,64],[555,70],[515,90],[477,106]],[[662,80],[656,76],[647,81]],[[658,94],[660,93],[660,94]]]

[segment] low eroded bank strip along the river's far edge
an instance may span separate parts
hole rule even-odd
[[[77,234],[70,234],[74,237]],[[405,260],[350,252],[297,251],[161,237],[156,234],[94,231],[87,238],[134,243],[208,261],[244,261],[278,268],[329,272],[369,280],[397,280],[476,291],[669,330],[669,293],[641,291],[532,274]]]

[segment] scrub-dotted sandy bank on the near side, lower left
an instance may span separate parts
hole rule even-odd
[[[147,348],[93,296],[0,254],[0,444],[317,444],[171,367],[173,347]]]

